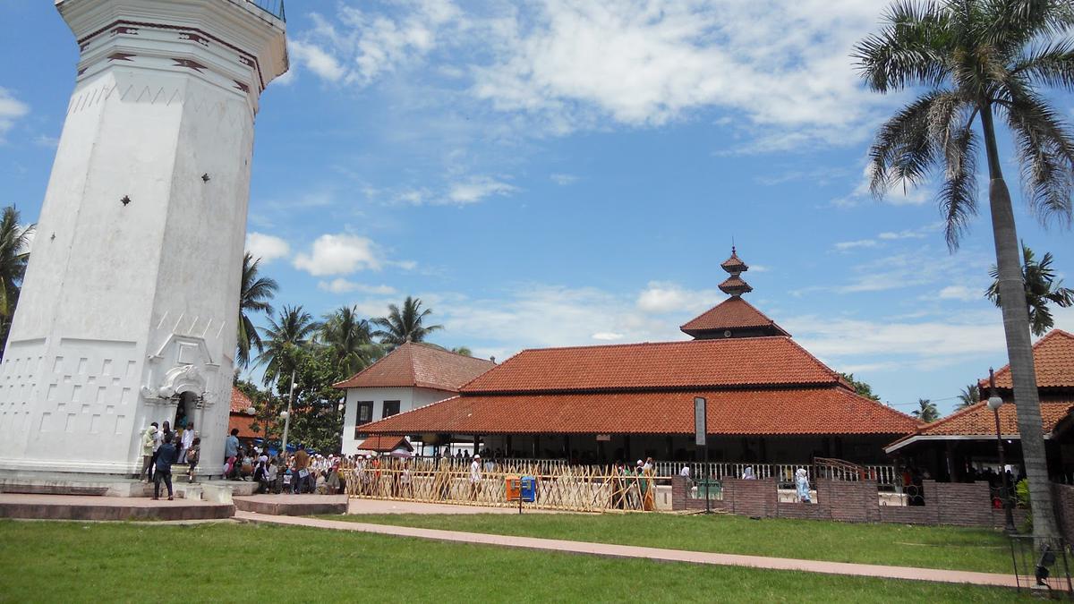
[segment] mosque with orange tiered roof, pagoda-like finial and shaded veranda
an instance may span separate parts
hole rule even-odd
[[[883,446],[918,421],[858,396],[746,302],[749,267],[734,248],[721,267],[728,298],[681,326],[693,340],[523,350],[456,396],[354,430],[511,457],[695,461],[705,459],[694,444],[703,397],[712,461],[889,463]]]

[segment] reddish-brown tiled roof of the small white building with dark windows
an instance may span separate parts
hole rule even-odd
[[[418,387],[458,392],[496,363],[430,346],[406,343],[336,388]]]

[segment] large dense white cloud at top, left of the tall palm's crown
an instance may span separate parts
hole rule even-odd
[[[592,112],[659,125],[722,106],[754,125],[844,130],[870,97],[847,54],[880,6],[844,0],[561,1],[505,28],[475,94],[571,125]],[[757,40],[765,40],[758,44]],[[806,128],[803,128],[806,127]],[[808,136],[816,135],[810,132]]]

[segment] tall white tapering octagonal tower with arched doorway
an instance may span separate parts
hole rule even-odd
[[[192,419],[220,474],[253,117],[282,0],[56,0],[78,75],[0,369],[0,470],[132,474]]]

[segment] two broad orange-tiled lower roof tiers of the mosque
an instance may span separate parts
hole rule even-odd
[[[459,397],[365,425],[378,434],[904,434],[918,422],[857,396],[786,336],[523,350]]]

